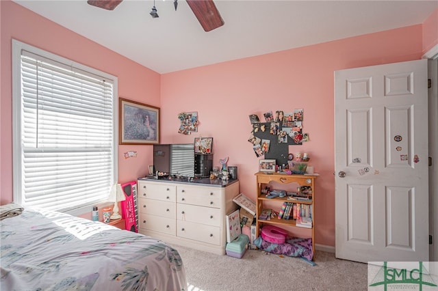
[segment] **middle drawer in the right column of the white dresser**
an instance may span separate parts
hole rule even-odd
[[[190,204],[177,204],[177,219],[207,225],[220,226],[220,209],[196,206]]]

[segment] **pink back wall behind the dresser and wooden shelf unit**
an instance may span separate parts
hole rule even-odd
[[[316,243],[335,245],[333,71],[420,59],[422,25],[162,75],[162,139],[192,142],[214,137],[214,164],[229,156],[238,167],[240,191],[255,199],[258,161],[248,143],[248,115],[304,109],[310,141],[289,146],[308,152],[320,174],[315,197]],[[198,111],[198,133],[178,135],[177,115]]]

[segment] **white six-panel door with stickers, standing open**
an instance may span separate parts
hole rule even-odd
[[[336,257],[428,261],[427,61],[335,72]]]

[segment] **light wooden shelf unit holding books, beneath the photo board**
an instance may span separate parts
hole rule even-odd
[[[277,225],[281,227],[287,226],[287,227],[298,227],[296,226],[296,221],[294,219],[270,219],[270,220],[261,220],[259,219],[259,215],[261,214],[261,210],[263,210],[263,204],[268,200],[271,204],[278,204],[278,208],[276,207],[274,210],[276,212],[279,212],[281,209],[281,206],[283,205],[283,202],[292,202],[292,203],[299,203],[299,204],[309,204],[312,206],[312,227],[306,228],[306,227],[299,227],[301,230],[307,230],[308,232],[311,232],[311,238],[312,238],[312,249],[313,253],[315,253],[315,179],[318,176],[318,174],[315,175],[286,175],[286,174],[265,174],[263,172],[257,172],[255,174],[256,180],[257,180],[257,214],[256,214],[256,232],[255,237],[259,237],[259,230],[261,229],[261,225],[263,224],[271,224],[271,225]],[[276,186],[272,187],[272,182],[276,182]],[[266,186],[270,186],[270,189],[281,189],[282,184],[290,184],[290,183],[296,183],[299,186],[311,186],[312,190],[312,201],[294,201],[294,200],[288,200],[287,197],[274,197],[274,198],[267,198],[266,194],[261,193],[262,189],[264,189]]]

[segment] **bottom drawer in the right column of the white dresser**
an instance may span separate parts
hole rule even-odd
[[[177,236],[220,245],[220,227],[177,220]]]

